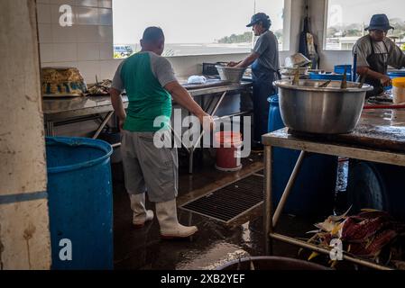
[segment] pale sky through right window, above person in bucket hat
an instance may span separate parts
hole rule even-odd
[[[373,14],[405,21],[405,0],[329,0],[328,26],[336,24],[370,23]]]

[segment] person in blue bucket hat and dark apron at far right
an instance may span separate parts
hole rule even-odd
[[[388,66],[400,69],[405,67],[405,55],[400,48],[387,37],[394,29],[386,14],[373,15],[370,25],[365,29],[368,35],[357,40],[353,52],[357,54],[357,74],[365,77],[365,83],[373,85],[373,91],[367,97],[384,92],[384,86],[391,85],[387,75]]]

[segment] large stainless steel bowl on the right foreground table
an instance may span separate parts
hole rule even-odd
[[[341,89],[340,81],[332,81],[327,88],[318,88],[325,81],[291,80],[274,82],[280,89],[280,110],[284,124],[294,131],[315,134],[345,134],[352,132],[360,120],[365,94],[371,85],[358,87],[348,82]]]

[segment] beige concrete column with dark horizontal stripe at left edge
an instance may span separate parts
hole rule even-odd
[[[0,1],[0,269],[49,269],[35,0]]]

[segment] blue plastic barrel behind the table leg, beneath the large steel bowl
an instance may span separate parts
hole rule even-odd
[[[284,128],[278,96],[269,98],[269,132]],[[274,205],[290,179],[300,151],[273,148],[272,192]],[[309,154],[299,171],[284,212],[300,215],[331,215],[335,202],[337,157]]]

